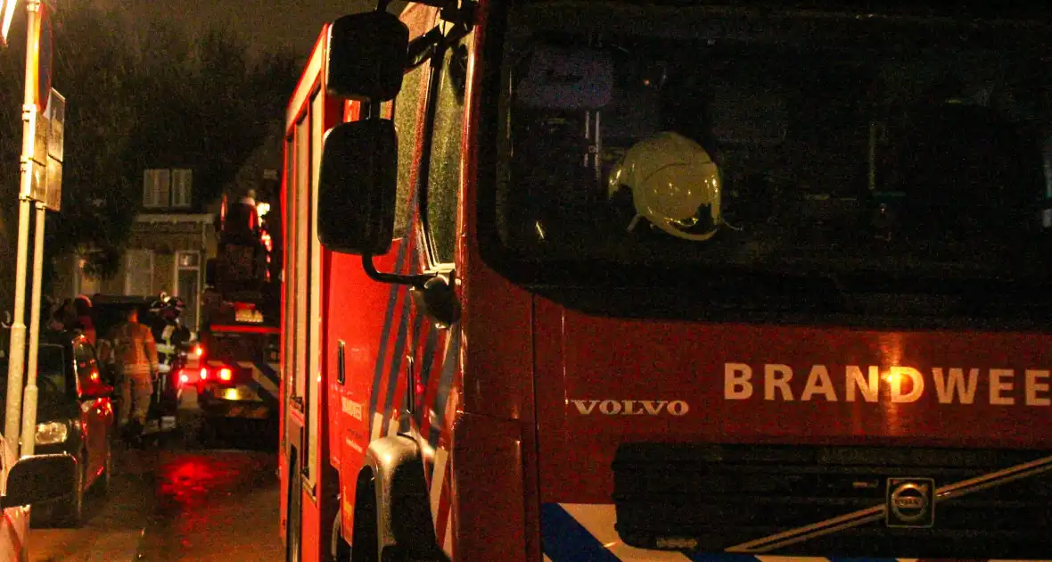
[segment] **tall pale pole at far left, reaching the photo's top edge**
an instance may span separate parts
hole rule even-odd
[[[29,199],[33,184],[33,149],[37,122],[37,66],[40,58],[40,0],[27,0],[25,33],[25,99],[22,104],[21,189],[18,206],[18,258],[15,263],[15,322],[11,326],[7,369],[7,404],[4,438],[18,456],[22,421],[22,369],[25,364],[25,269],[29,245]],[[36,435],[31,437],[35,438]]]

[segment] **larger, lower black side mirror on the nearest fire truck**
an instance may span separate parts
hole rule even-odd
[[[391,246],[398,141],[386,119],[342,123],[325,138],[318,240],[332,252],[382,256]]]

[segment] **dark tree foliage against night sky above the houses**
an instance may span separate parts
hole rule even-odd
[[[47,255],[85,253],[89,273],[107,276],[120,264],[142,202],[143,169],[190,167],[196,197],[219,197],[280,118],[298,68],[294,54],[252,56],[224,28],[191,37],[90,5],[62,8],[53,17],[54,87],[66,98],[62,212],[49,215]],[[24,21],[9,40],[0,57],[7,84],[0,115],[16,117]],[[21,136],[17,119],[0,119],[4,185],[18,184]],[[17,217],[14,197],[0,205]],[[5,227],[13,237],[14,221]]]

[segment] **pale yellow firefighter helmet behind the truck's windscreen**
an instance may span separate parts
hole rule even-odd
[[[716,164],[696,142],[671,132],[635,143],[610,172],[609,196],[632,192],[635,217],[676,238],[705,241],[723,223]]]

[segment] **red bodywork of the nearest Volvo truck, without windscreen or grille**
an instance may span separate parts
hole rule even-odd
[[[437,13],[410,4],[402,15],[410,37]],[[369,446],[400,434],[419,444],[438,546],[469,562],[720,556],[644,549],[619,536],[612,498],[619,470],[629,468],[616,467],[642,462],[619,460],[626,444],[868,446],[889,455],[1052,448],[1049,334],[612,318],[500,275],[480,254],[473,179],[487,13],[480,4],[469,40],[453,264],[461,317],[448,328],[432,325],[406,286],[373,281],[361,258],[318,243],[310,204],[321,138],[359,115],[357,103],[326,97],[328,27],[289,104],[280,470],[290,560],[322,560],[336,539],[351,541],[356,499],[376,477]],[[422,119],[422,104],[418,113]],[[305,117],[323,128],[298,128]],[[416,158],[422,142],[423,134]],[[301,175],[303,155],[309,174]],[[418,243],[421,221],[413,215],[410,224],[376,257],[379,270],[442,269]],[[309,476],[300,474],[305,464]],[[917,471],[899,476],[926,476]]]

